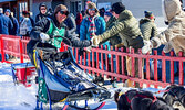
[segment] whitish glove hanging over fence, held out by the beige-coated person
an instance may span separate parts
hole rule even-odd
[[[144,42],[144,46],[142,47],[142,53],[147,54],[153,48],[153,44],[151,43],[151,41],[144,40],[143,42]]]

